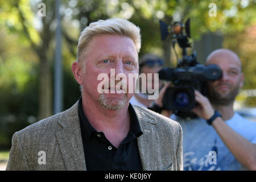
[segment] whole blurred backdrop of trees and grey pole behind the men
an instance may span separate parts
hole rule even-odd
[[[200,63],[217,48],[240,56],[245,84],[235,107],[255,121],[255,0],[0,1],[0,150],[5,151],[0,162],[6,161],[15,131],[68,109],[79,99],[71,64],[80,32],[90,22],[108,18],[129,19],[139,26],[139,56],[156,53],[169,67],[177,60],[170,38],[160,39],[159,20],[171,24],[191,18],[190,51],[197,51]],[[180,53],[179,47],[175,49]]]

